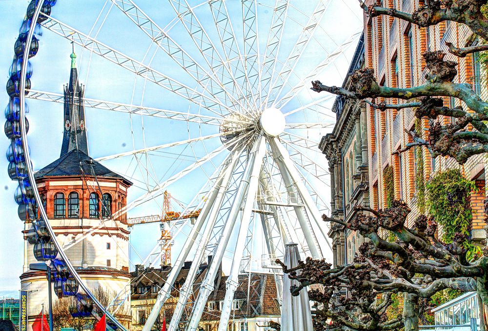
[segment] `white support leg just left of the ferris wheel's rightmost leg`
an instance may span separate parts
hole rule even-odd
[[[296,194],[297,191],[295,191],[292,178],[290,178],[290,174],[287,171],[287,167],[284,162],[285,157],[283,156],[283,153],[286,152],[285,151],[282,152],[278,149],[278,146],[276,144],[276,138],[270,139],[270,145],[271,145],[271,151],[273,153],[273,158],[275,159],[278,169],[280,170],[280,173],[282,175],[283,181],[286,186],[286,190],[289,193]],[[308,245],[308,250],[310,251],[310,254],[312,254],[312,257],[314,258],[322,257],[322,252],[320,250],[319,243],[315,237],[315,234],[313,233],[312,226],[305,215],[304,208],[300,206],[293,206],[293,209],[295,210],[295,214],[297,215],[298,222],[300,223],[300,227],[302,228],[302,231],[304,233],[305,241]]]

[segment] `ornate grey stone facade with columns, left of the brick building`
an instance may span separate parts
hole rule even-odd
[[[354,70],[364,67],[364,37],[356,48],[343,87],[348,87]],[[364,102],[337,97],[332,111],[337,122],[332,133],[322,137],[319,148],[328,160],[331,189],[331,217],[348,222],[353,207],[369,206],[366,107]],[[334,266],[350,262],[363,238],[339,224],[330,224]]]

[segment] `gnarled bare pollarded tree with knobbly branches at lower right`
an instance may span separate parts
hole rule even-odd
[[[287,269],[277,260],[285,273],[300,283],[291,288],[292,294],[298,295],[313,284],[323,285],[324,291],[308,292],[317,303],[315,330],[417,331],[419,314],[429,308],[432,295],[445,289],[476,291],[482,302],[488,303],[488,247],[484,247],[483,256],[468,261],[465,235],[457,233],[452,243],[443,243],[435,235],[435,220],[427,220],[425,215],[407,227],[410,208],[398,200],[384,210],[355,209],[358,215],[351,223],[323,216],[325,221],[370,239],[361,245],[352,263],[332,268],[324,260],[307,258],[298,267]],[[487,209],[485,203],[485,212]],[[383,239],[387,231],[395,235],[395,242]],[[339,295],[345,289],[349,297]],[[403,316],[387,319],[386,309],[396,293],[404,296]],[[481,330],[486,330],[481,324]]]

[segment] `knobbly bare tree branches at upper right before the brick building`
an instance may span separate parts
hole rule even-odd
[[[486,0],[426,0],[413,13],[405,13],[392,8],[385,8],[375,4],[366,6],[360,0],[361,7],[367,15],[376,17],[388,15],[409,21],[418,26],[426,27],[442,21],[455,21],[466,24],[473,32],[468,41],[488,39],[488,19],[483,13],[487,10]],[[488,45],[458,48],[449,41],[446,42],[449,52],[457,57],[465,57],[469,53],[488,49]],[[410,88],[392,88],[380,86],[371,68],[356,71],[352,76],[351,88],[344,89],[337,86],[326,86],[320,81],[312,82],[312,90],[327,91],[353,99],[363,99],[371,106],[382,111],[388,109],[414,108],[418,118],[429,118],[430,127],[428,138],[423,139],[412,131],[413,142],[408,143],[400,152],[412,146],[426,146],[434,157],[452,156],[460,164],[467,161],[469,156],[488,152],[488,103],[482,100],[468,83],[453,83],[457,75],[457,61],[445,60],[445,53],[441,51],[427,52],[423,56],[427,63],[428,73],[426,82],[420,86]],[[375,103],[375,98],[400,98],[411,100],[403,104]],[[462,100],[469,110],[462,107],[448,108],[443,106],[442,97],[455,97]],[[371,100],[368,100],[371,99]],[[439,115],[453,117],[454,124],[441,124],[436,121]],[[476,131],[467,129],[471,124]]]

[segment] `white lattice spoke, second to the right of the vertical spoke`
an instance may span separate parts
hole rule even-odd
[[[283,68],[278,73],[277,77],[273,79],[271,95],[278,98],[286,86],[291,73],[294,71],[300,58],[305,53],[305,49],[312,39],[317,26],[319,26],[320,21],[325,15],[328,6],[332,0],[319,1],[315,7],[312,15],[308,19],[308,22],[303,28],[302,34],[298,38],[296,44],[294,45],[292,51],[290,52],[288,58],[286,58]]]

